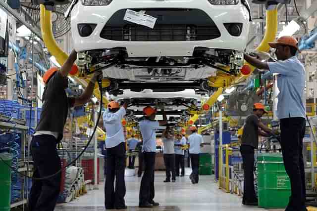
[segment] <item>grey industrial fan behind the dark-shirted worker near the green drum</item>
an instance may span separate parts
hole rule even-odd
[[[260,99],[253,90],[233,93],[226,103],[227,113],[229,116],[248,116],[253,111],[253,104]]]

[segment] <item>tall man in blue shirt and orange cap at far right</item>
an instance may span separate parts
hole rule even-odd
[[[280,120],[281,148],[286,172],[290,178],[291,191],[285,211],[306,211],[305,169],[303,161],[303,138],[306,127],[305,67],[297,59],[297,41],[283,36],[277,42],[268,43],[275,48],[277,62],[262,62],[244,55],[251,65],[277,75],[277,117]]]

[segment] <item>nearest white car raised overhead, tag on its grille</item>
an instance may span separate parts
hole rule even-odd
[[[247,0],[73,0],[69,11],[81,70],[124,81],[236,74],[251,20]]]

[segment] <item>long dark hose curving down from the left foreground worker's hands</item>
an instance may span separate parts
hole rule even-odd
[[[0,157],[0,161],[2,161],[7,167],[9,167],[10,169],[13,169],[15,170],[18,174],[24,176],[24,177],[27,177],[27,178],[32,178],[34,180],[45,180],[45,179],[49,179],[49,178],[52,178],[53,176],[56,176],[57,174],[59,174],[62,169],[66,169],[67,167],[70,167],[72,164],[74,164],[83,154],[84,152],[87,150],[87,148],[89,147],[94,135],[95,135],[95,132],[97,130],[97,127],[98,127],[98,123],[100,121],[100,117],[101,117],[101,113],[102,113],[102,110],[103,110],[103,92],[102,92],[102,80],[98,80],[98,85],[99,85],[99,90],[100,90],[100,94],[101,94],[101,98],[100,98],[100,110],[99,110],[99,115],[98,115],[98,119],[97,119],[97,122],[96,122],[96,125],[95,125],[95,128],[94,128],[94,131],[92,133],[92,135],[90,136],[90,139],[88,141],[88,143],[86,144],[86,146],[84,147],[84,149],[80,152],[80,154],[72,161],[70,162],[69,164],[67,164],[65,167],[59,169],[56,173],[52,174],[52,175],[49,175],[49,176],[45,176],[45,177],[31,177],[31,176],[28,176],[26,174],[23,174],[15,169],[13,169],[12,167],[10,167],[10,165],[8,165],[7,163],[5,163],[5,161]]]

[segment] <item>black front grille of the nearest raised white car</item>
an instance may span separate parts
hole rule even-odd
[[[154,29],[123,20],[125,9],[115,12],[100,37],[112,41],[204,41],[220,37],[211,18],[199,9],[145,10],[157,17]]]

